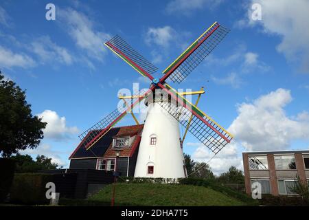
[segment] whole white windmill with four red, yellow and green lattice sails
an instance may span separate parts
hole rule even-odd
[[[187,128],[215,155],[233,138],[232,135],[212,120],[196,105],[173,89],[166,80],[181,83],[206,56],[222,41],[229,30],[219,23],[212,24],[192,43],[183,54],[169,65],[161,78],[152,76],[157,67],[141,56],[120,36],[104,43],[139,74],[149,78],[150,87],[143,93],[130,97],[125,107],[112,111],[105,118],[80,135],[84,147],[90,149],[126,113],[145,100],[148,113],[139,145],[135,177],[187,177],[183,149],[179,135],[179,123]]]

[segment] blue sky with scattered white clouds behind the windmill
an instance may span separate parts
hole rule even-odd
[[[55,21],[45,19],[47,3],[56,5]],[[260,21],[251,19],[253,3],[261,5]],[[306,0],[1,1],[0,68],[49,122],[41,146],[25,153],[68,166],[78,134],[117,107],[119,89],[148,87],[104,47],[111,36],[119,34],[159,67],[159,77],[214,21],[231,32],[183,83],[171,84],[204,86],[199,107],[235,135],[211,168],[242,168],[242,151],[308,148],[308,6]],[[119,125],[133,123],[128,115]],[[211,157],[192,135],[184,150],[199,161]]]

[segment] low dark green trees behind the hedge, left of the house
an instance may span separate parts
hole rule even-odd
[[[19,153],[10,158],[16,163],[15,173],[36,173],[38,170],[54,170],[58,168],[58,164],[53,163],[52,158],[44,155],[37,155],[36,161],[30,155],[21,155]]]

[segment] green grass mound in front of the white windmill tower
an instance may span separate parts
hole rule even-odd
[[[110,202],[113,185],[102,188],[89,200]],[[132,206],[247,206],[247,203],[204,186],[181,184],[116,185],[115,205]]]

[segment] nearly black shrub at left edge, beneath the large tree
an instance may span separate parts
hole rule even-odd
[[[12,159],[0,158],[0,202],[4,201],[12,185],[15,162]]]

